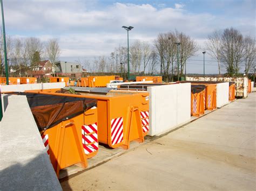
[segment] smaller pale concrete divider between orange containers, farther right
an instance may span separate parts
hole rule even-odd
[[[217,108],[223,107],[223,105],[228,104],[228,94],[229,94],[229,83],[217,83]]]

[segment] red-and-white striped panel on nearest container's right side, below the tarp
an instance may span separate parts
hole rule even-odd
[[[85,154],[98,151],[99,144],[97,123],[82,126],[82,143]]]

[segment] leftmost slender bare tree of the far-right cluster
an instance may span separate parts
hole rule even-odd
[[[213,59],[218,61],[218,69],[220,75],[220,49],[221,49],[221,31],[213,31],[206,41],[206,49]]]

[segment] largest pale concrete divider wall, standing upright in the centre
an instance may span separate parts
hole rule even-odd
[[[148,87],[149,135],[161,135],[190,120],[191,83]]]

